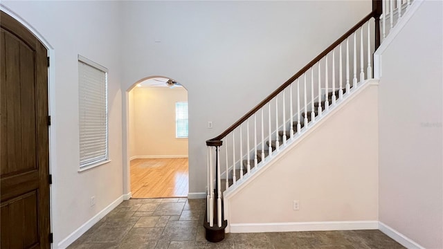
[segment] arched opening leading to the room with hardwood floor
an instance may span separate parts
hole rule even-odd
[[[188,196],[188,91],[169,77],[147,77],[129,91],[132,198]]]

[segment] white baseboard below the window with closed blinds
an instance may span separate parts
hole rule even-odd
[[[106,214],[111,212],[111,210],[114,210],[114,208],[116,208],[120,203],[122,203],[123,200],[125,199],[125,196],[127,196],[127,194],[123,194],[122,196],[118,197],[116,201],[113,201],[106,208],[98,212],[98,214],[89,219],[89,221],[81,225],[80,228],[77,228],[77,230],[69,234],[68,237],[62,239],[62,241],[60,241],[60,243],[57,244],[57,248],[67,248],[69,245],[71,245],[71,243],[73,243],[76,239],[80,238],[80,236],[82,236],[84,232],[89,230],[89,228],[92,228],[92,226],[95,225],[98,221],[100,221],[100,219],[105,217]]]

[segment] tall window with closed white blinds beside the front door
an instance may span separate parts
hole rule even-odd
[[[105,163],[108,154],[107,68],[78,56],[80,168]]]

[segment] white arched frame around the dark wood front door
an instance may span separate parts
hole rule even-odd
[[[55,113],[55,105],[51,103],[55,103],[55,72],[53,70],[55,66],[55,53],[53,46],[49,44],[49,42],[35,29],[32,25],[28,24],[27,21],[25,21],[23,18],[21,18],[17,13],[13,12],[9,8],[3,5],[3,3],[0,3],[0,10],[5,12],[6,14],[10,15],[15,21],[18,21],[21,25],[25,26],[30,33],[32,33],[39,42],[41,42],[45,47],[46,50],[48,50],[48,57],[49,57],[49,66],[48,66],[48,115],[53,116],[53,113]],[[54,176],[57,176],[57,169],[55,167],[55,125],[54,122],[48,127],[48,141],[49,141],[49,174],[51,174],[54,178]],[[49,225],[51,228],[51,232],[54,231],[53,221],[53,209],[55,210],[57,208],[57,204],[55,203],[55,197],[56,193],[53,191],[53,187],[56,187],[55,181],[53,181],[53,184],[49,185]],[[57,234],[55,234],[57,236]],[[55,241],[55,239],[54,239]],[[51,244],[51,248],[53,248],[53,245]]]

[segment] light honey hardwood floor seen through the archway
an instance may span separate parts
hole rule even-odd
[[[188,158],[131,160],[132,198],[187,197]]]

